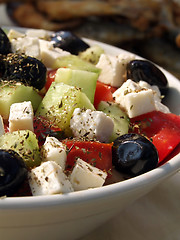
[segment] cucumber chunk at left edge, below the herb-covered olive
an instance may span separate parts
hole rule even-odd
[[[33,87],[21,84],[1,84],[0,85],[0,115],[3,119],[8,119],[10,106],[13,103],[31,101],[33,110],[35,111],[42,97]]]

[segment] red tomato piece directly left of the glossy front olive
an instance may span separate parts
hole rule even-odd
[[[77,158],[111,174],[112,144],[66,139],[63,143],[70,150],[67,154],[67,169],[73,168]]]

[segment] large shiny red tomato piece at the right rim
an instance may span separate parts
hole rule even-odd
[[[132,132],[152,139],[159,154],[159,164],[180,144],[180,116],[153,111],[131,119]]]

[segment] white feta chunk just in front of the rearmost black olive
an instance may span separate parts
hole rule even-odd
[[[39,40],[41,59],[47,68],[52,68],[54,62],[63,56],[70,55],[69,52],[63,51],[60,48],[54,48],[51,42]]]

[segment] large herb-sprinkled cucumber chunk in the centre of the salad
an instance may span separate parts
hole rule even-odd
[[[53,82],[39,105],[36,116],[43,116],[71,136],[70,119],[75,108],[94,110],[93,104],[79,88]]]

